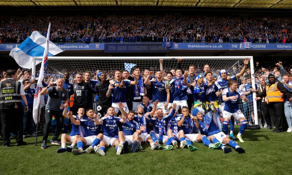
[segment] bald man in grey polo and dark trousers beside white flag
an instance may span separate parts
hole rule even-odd
[[[55,145],[61,145],[61,142],[58,142],[57,139],[61,133],[61,129],[63,126],[63,116],[60,107],[64,107],[64,104],[61,106],[60,104],[63,100],[65,101],[64,103],[68,103],[69,97],[67,89],[63,88],[63,79],[59,78],[57,80],[57,86],[54,86],[54,84],[54,82],[50,82],[50,84],[47,87],[44,87],[40,92],[41,95],[48,94],[48,101],[45,111],[46,124],[43,127],[42,149],[47,148],[47,139],[49,136],[49,129],[53,115],[57,121],[57,131],[55,132],[51,143]]]

